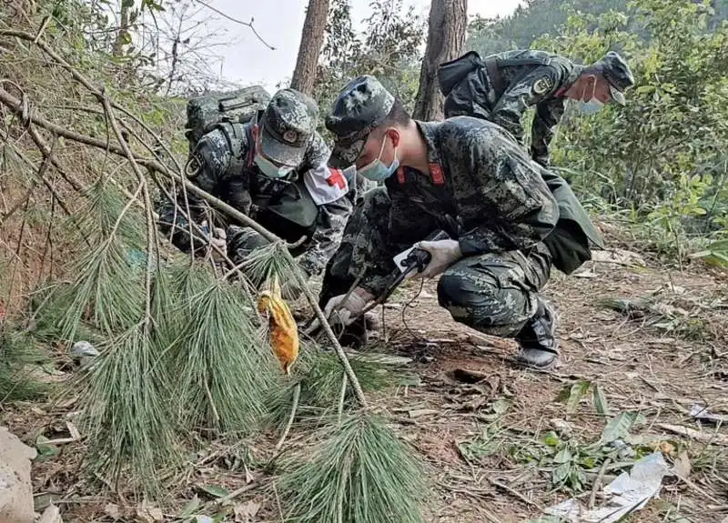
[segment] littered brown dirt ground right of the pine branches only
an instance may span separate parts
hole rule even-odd
[[[612,416],[622,411],[644,416],[633,437],[654,437],[653,446],[662,440],[668,463],[684,449],[692,464],[685,480],[666,478],[661,499],[631,521],[677,521],[678,508],[690,521],[728,520],[728,427],[701,427],[689,415],[696,403],[711,412],[728,411],[724,275],[704,267],[681,273],[649,261],[641,267],[624,252],[612,258],[619,263],[590,262],[576,276],[552,278],[545,289],[559,309],[561,339],[560,363],[548,372],[514,367],[511,342],[451,321],[437,305],[434,285],[425,286],[404,315],[399,305],[387,309],[387,345],[419,361],[422,386],[399,390],[388,405],[402,413],[404,433],[434,471],[440,508],[431,521],[526,521],[571,498],[552,488],[552,463],[524,463],[515,448],[529,448],[551,430],[580,443],[598,440],[607,417],[598,414],[591,393],[572,412],[556,400],[564,387],[584,381],[601,387]],[[412,287],[400,302],[417,295],[419,286]],[[605,298],[648,297],[653,305],[645,314],[625,315],[602,304]],[[482,381],[462,384],[456,369],[474,371]],[[504,400],[511,406],[493,435],[489,406]],[[669,425],[700,430],[701,441],[676,435],[665,428]],[[711,439],[713,434],[719,436]],[[580,496],[585,502],[592,482]]]

